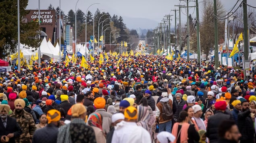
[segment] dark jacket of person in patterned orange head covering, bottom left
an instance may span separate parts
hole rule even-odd
[[[48,124],[46,127],[35,131],[32,143],[57,143],[58,127]]]

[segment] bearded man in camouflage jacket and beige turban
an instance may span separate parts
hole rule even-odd
[[[10,117],[15,118],[21,127],[22,134],[16,138],[16,143],[29,143],[35,132],[35,122],[31,114],[24,110],[25,101],[23,99],[16,99],[14,101],[15,109]]]

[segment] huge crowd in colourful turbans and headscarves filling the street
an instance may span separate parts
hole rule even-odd
[[[255,142],[254,71],[244,79],[207,61],[99,58],[1,73],[1,142]]]

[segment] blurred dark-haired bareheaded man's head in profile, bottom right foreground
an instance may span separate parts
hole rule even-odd
[[[222,121],[219,126],[219,137],[220,139],[218,143],[239,143],[239,137],[241,137],[241,133],[239,133],[235,121]]]

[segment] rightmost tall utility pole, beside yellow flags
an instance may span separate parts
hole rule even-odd
[[[244,79],[246,79],[245,60],[249,60],[249,53],[248,53],[247,0],[244,0],[244,2],[243,2],[243,9],[244,9]]]

